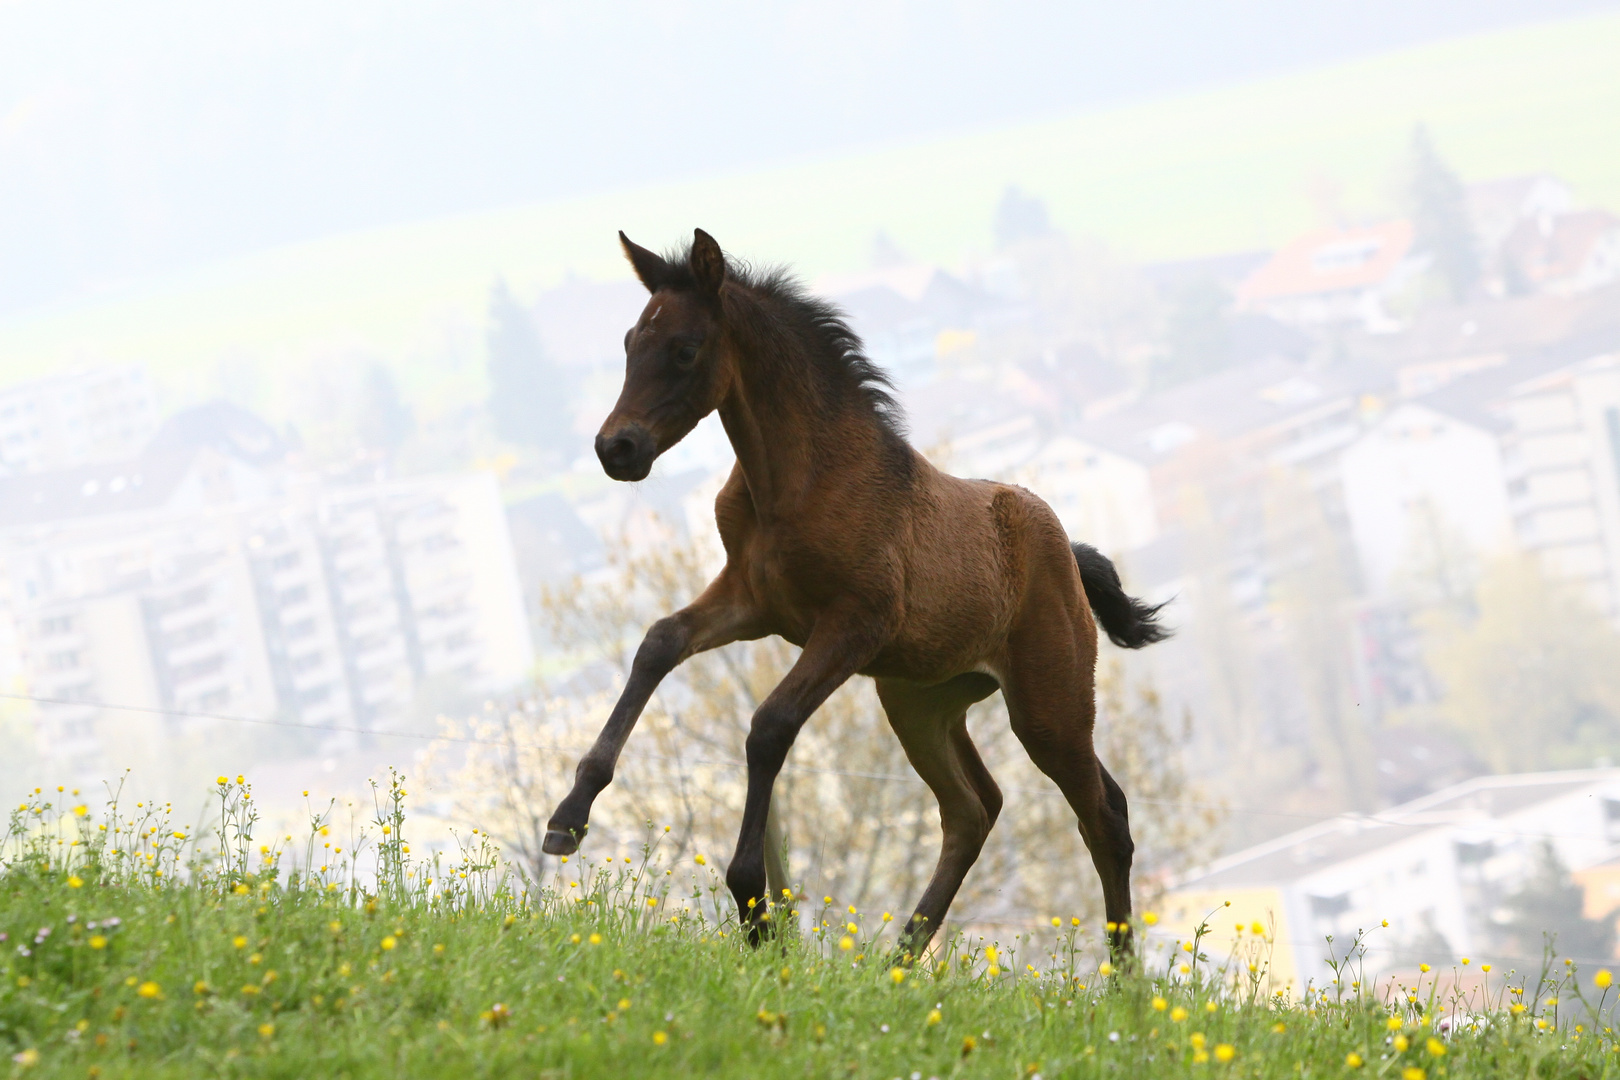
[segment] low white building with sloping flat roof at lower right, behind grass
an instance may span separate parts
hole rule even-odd
[[[1371,931],[1369,976],[1460,957],[1524,970],[1539,955],[1502,954],[1511,946],[1498,912],[1547,844],[1576,881],[1620,853],[1620,769],[1479,777],[1375,816],[1290,832],[1179,882],[1155,936],[1187,939],[1213,912],[1215,955],[1233,926],[1259,921],[1275,939],[1273,984],[1296,993],[1332,978],[1327,938],[1343,955],[1358,929]],[[1589,895],[1588,916],[1614,910]]]

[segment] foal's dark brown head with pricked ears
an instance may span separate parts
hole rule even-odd
[[[619,243],[651,298],[624,335],[624,390],[596,434],[596,457],[614,479],[645,479],[731,387],[734,359],[719,332],[726,256],[701,228],[685,262],[624,233]]]

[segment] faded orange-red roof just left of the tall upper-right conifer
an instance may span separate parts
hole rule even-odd
[[[1238,306],[1380,283],[1413,246],[1408,220],[1324,228],[1281,248],[1238,287]]]

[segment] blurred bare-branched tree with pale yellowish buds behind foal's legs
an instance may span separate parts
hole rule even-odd
[[[551,644],[575,665],[569,685],[454,724],[484,742],[447,743],[433,782],[457,816],[491,831],[539,878],[544,821],[572,782],[578,753],[596,735],[646,627],[687,602],[713,575],[713,544],[671,536],[646,554],[614,549],[611,573],[551,591]],[[797,649],[779,641],[735,643],[703,653],[664,680],[643,712],[614,784],[593,811],[591,845],[625,850],[646,823],[676,855],[719,861],[742,813],[748,721],[782,678]],[[1197,861],[1217,816],[1199,803],[1183,750],[1187,725],[1165,717],[1152,687],[1116,664],[1098,677],[1098,751],[1124,790],[1142,800],[1131,821],[1137,889],[1152,899],[1168,874]],[[1102,918],[1102,897],[1074,813],[1011,732],[1000,696],[969,717],[974,740],[1006,793],[1006,810],[969,874],[953,921]],[[778,780],[787,881],[859,908],[889,908],[896,926],[933,871],[940,850],[932,792],[910,771],[888,730],[872,682],[841,687],[800,732]],[[664,834],[663,826],[669,826]]]

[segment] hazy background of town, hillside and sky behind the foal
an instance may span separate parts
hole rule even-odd
[[[729,63],[637,68],[653,31],[700,32],[672,16],[441,37],[356,8],[172,39],[115,16],[55,66],[0,63],[0,797],[128,769],[186,805],[246,771],[292,814],[399,764],[546,874],[536,829],[642,628],[718,565],[713,418],[637,486],[590,442],[645,300],[614,232],[700,225],[849,313],[936,463],[1040,494],[1168,602],[1171,641],[1105,653],[1098,733],[1166,925],[1238,897],[1301,978],[1383,918],[1392,962],[1534,957],[1544,929],[1612,955],[1620,15],[1168,6],[1166,42],[1129,18],[1037,42],[1014,6],[910,50],[919,16],[839,10],[839,63],[893,70],[838,89],[808,58],[838,18],[797,47],[732,26],[774,42],[745,66],[795,62],[774,99],[692,120],[708,160],[676,165],[680,108],[632,123],[640,99],[562,57],[625,32],[612,70],[645,87]],[[1064,74],[1051,50],[1087,34],[1155,63]],[[481,117],[530,78],[523,42],[549,96]],[[990,89],[951,89],[962,57]],[[669,92],[750,94],[692,79]],[[345,141],[374,117],[374,147]],[[298,168],[326,160],[316,198]],[[593,844],[653,823],[729,850],[747,717],[787,662],[739,646],[672,678]],[[1004,727],[974,717],[1009,813],[959,915],[1087,910],[1072,818]],[[818,894],[899,910],[932,866],[932,801],[859,687],[778,811]]]

